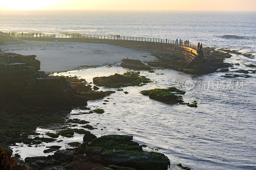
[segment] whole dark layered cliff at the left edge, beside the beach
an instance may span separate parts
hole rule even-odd
[[[40,69],[36,55],[0,50],[0,97],[19,99],[37,106],[84,106],[87,98],[78,95],[63,78],[49,79]],[[43,77],[43,78],[42,78]]]

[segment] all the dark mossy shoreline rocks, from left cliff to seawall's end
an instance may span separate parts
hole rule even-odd
[[[228,53],[216,51],[214,48],[205,47],[204,57],[206,63],[203,66],[190,66],[185,61],[175,56],[160,56],[154,54],[159,61],[143,64],[140,60],[124,59],[122,67],[135,70],[150,70],[151,67],[171,68],[190,74],[206,74],[215,72],[218,68],[230,66],[224,63],[225,58],[231,57]],[[90,131],[84,129],[72,129],[76,124],[85,124],[82,127],[92,130],[94,127],[88,121],[68,119],[67,116],[74,107],[90,110],[85,107],[88,100],[97,100],[109,96],[115,91],[97,91],[100,86],[108,88],[121,88],[127,86],[143,86],[152,82],[140,72],[127,72],[110,76],[94,77],[93,83],[86,82],[78,77],[48,76],[40,70],[40,61],[35,55],[24,56],[16,53],[5,53],[0,50],[0,151],[8,153],[8,146],[23,143],[29,147],[43,142],[56,141],[57,136],[73,137],[74,133],[83,134],[83,143],[71,142],[67,148],[53,145],[44,153],[54,152],[49,156],[27,157],[14,161],[21,169],[88,169],[88,170],[166,170],[170,166],[170,160],[159,152],[145,152],[142,145],[132,141],[132,136],[106,135],[97,138]],[[248,66],[253,67],[253,66]],[[149,72],[150,72],[149,71]],[[151,71],[152,72],[152,71]],[[225,72],[225,70],[223,70]],[[235,74],[236,75],[236,74]],[[238,74],[237,74],[238,75]],[[239,74],[241,75],[241,74]],[[226,75],[231,77],[232,75]],[[225,77],[225,76],[224,76]],[[3,83],[4,82],[4,83]],[[93,85],[94,84],[94,85]],[[99,86],[99,87],[98,87]],[[3,87],[3,88],[2,88]],[[117,91],[122,89],[117,89]],[[124,92],[128,94],[128,92]],[[141,91],[142,95],[166,102],[187,104],[197,107],[196,101],[184,103],[182,96],[185,91],[174,89],[151,89]],[[65,107],[64,107],[65,106]],[[82,114],[102,114],[104,110],[95,109]],[[45,134],[47,137],[35,132],[37,127],[56,126],[60,129],[57,133]],[[3,149],[4,148],[4,149]],[[16,158],[19,159],[18,155]],[[141,159],[143,158],[143,159]],[[185,170],[190,170],[178,164]]]

